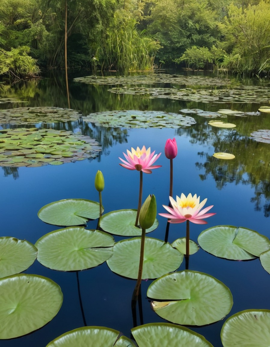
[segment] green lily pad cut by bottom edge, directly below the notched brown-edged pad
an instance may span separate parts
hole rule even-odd
[[[132,328],[131,332],[139,347],[213,347],[202,335],[171,323],[144,324]]]

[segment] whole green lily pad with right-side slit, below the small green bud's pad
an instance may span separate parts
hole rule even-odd
[[[114,239],[106,232],[69,227],[42,236],[37,260],[47,268],[78,271],[93,268],[112,256]]]

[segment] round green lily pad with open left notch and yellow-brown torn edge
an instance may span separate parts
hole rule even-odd
[[[184,270],[153,281],[147,296],[155,313],[170,322],[205,325],[224,318],[233,306],[228,287],[202,272]],[[161,301],[162,300],[162,301]]]

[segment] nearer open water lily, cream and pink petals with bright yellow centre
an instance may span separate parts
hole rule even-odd
[[[207,199],[204,199],[200,202],[200,196],[194,196],[191,193],[186,197],[183,193],[181,196],[176,196],[176,201],[170,196],[171,206],[162,205],[165,210],[169,213],[159,213],[162,217],[169,218],[170,223],[183,223],[186,220],[191,221],[195,224],[207,224],[204,218],[211,217],[216,213],[206,213],[208,212],[213,205],[206,207],[202,210]]]

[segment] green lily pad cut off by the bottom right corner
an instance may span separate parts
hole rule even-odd
[[[230,316],[221,329],[224,347],[268,347],[270,310],[245,310]]]

